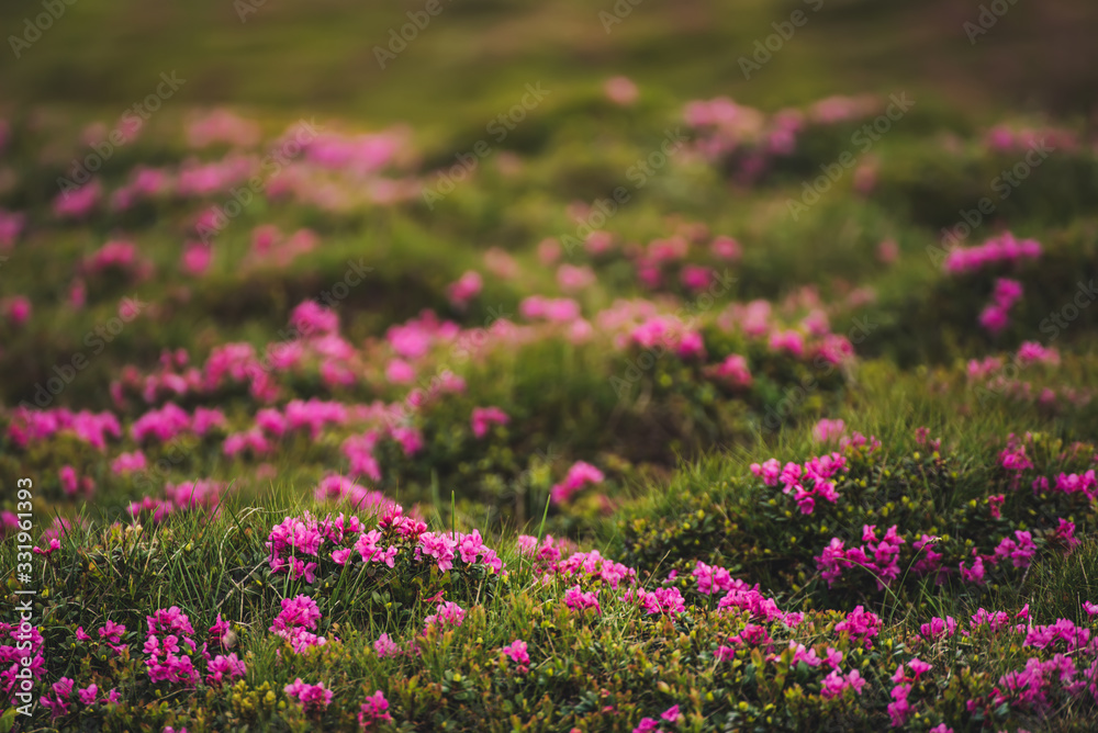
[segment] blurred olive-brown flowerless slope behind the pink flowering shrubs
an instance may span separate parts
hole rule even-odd
[[[903,89],[974,114],[1089,117],[1098,93],[1090,0],[438,0],[383,69],[376,47],[426,0],[69,1],[56,0],[64,12],[19,58],[12,36],[24,37],[43,0],[0,7],[3,103],[111,113],[170,70],[189,105],[417,126],[509,104],[530,79],[552,89],[619,74],[676,99],[722,93],[762,109]],[[798,10],[807,22],[795,38],[744,79],[740,57]]]

